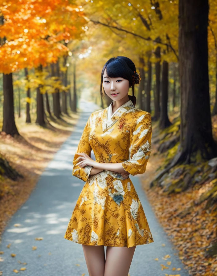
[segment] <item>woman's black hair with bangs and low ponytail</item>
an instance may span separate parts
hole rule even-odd
[[[118,56],[117,58],[111,58],[109,59],[101,73],[101,83],[100,83],[100,95],[105,96],[105,90],[104,93],[102,92],[102,82],[103,82],[103,74],[106,69],[107,75],[109,78],[118,78],[121,77],[123,79],[129,80],[129,87],[132,86],[132,92],[133,95],[128,95],[129,99],[133,102],[133,105],[136,105],[136,97],[134,95],[134,84],[133,84],[133,74],[136,72],[136,67],[133,61],[127,57],[124,56]]]

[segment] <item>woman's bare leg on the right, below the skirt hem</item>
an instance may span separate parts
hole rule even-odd
[[[107,246],[104,276],[127,276],[136,246]]]

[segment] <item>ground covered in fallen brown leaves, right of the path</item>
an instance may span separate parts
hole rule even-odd
[[[160,131],[157,123],[153,122],[153,138],[159,138]],[[217,140],[217,116],[212,117],[213,136]],[[152,187],[150,183],[157,176],[158,167],[165,162],[166,153],[159,154],[158,144],[152,143],[152,156],[146,172],[141,176],[142,187],[159,223],[169,236],[174,248],[179,251],[179,258],[184,263],[190,275],[217,275],[217,256],[206,257],[207,247],[216,241],[217,212],[205,210],[206,201],[191,208],[184,217],[178,214],[192,202],[197,202],[200,195],[209,189],[211,181],[203,185],[195,184],[181,193],[169,195],[162,191],[162,187]],[[170,264],[168,263],[168,266]],[[165,268],[164,268],[165,269]],[[169,276],[169,274],[165,275]],[[178,274],[179,275],[179,274]]]

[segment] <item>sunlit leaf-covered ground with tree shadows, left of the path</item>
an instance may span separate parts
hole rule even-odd
[[[47,128],[36,125],[32,116],[31,124],[26,124],[23,114],[15,118],[21,136],[12,137],[0,132],[0,152],[18,173],[23,175],[16,181],[0,180],[0,237],[7,221],[28,199],[40,175],[53,159],[63,142],[70,136],[79,118],[70,112],[61,119],[49,120]]]

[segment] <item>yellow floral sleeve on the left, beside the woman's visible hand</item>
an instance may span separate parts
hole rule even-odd
[[[88,156],[90,156],[91,153],[91,146],[89,144],[89,130],[90,130],[90,117],[88,118],[88,121],[84,127],[84,131],[81,135],[77,151],[76,152],[83,152],[86,153]],[[82,161],[79,159],[80,155],[75,154],[73,159],[73,170],[72,175],[82,179],[83,181],[87,181],[88,176],[90,175],[90,171],[93,168],[92,166],[86,165],[85,167],[80,167],[77,165],[78,162]]]

